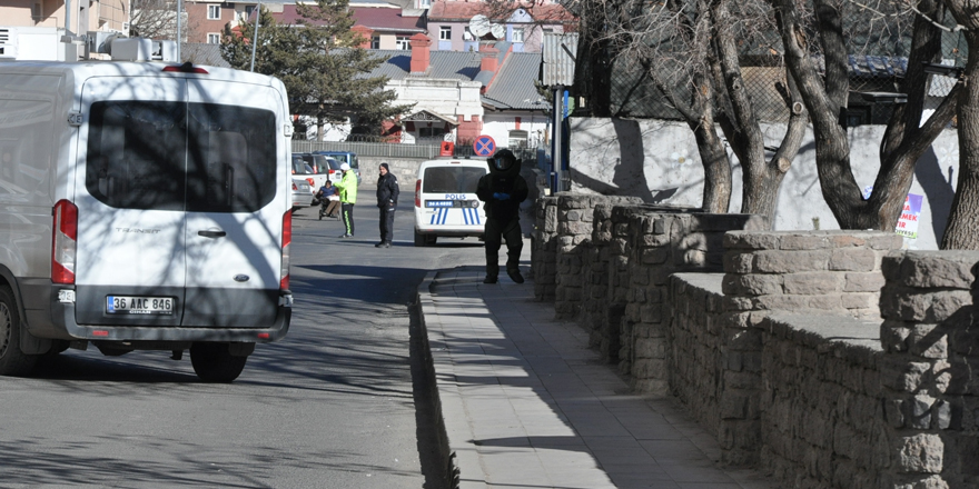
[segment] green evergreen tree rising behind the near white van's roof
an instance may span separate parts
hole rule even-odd
[[[394,102],[397,94],[384,90],[387,77],[367,77],[384,62],[362,49],[366,40],[350,30],[354,19],[347,0],[319,0],[297,4],[298,24],[276,23],[263,9],[255,53],[255,71],[271,74],[286,86],[290,111],[315,120],[319,134],[327,123],[350,120],[379,133],[380,122],[411,110]],[[225,31],[221,53],[233,67],[251,67],[251,41],[255,23],[246,22],[236,33]]]

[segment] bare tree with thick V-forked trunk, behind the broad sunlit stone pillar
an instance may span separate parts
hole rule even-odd
[[[897,2],[877,6],[812,0],[813,21],[803,17],[795,0],[771,0],[779,32],[785,50],[785,63],[805,108],[812,118],[815,136],[815,160],[820,186],[827,204],[843,229],[893,230],[911,187],[914,164],[951,121],[958,86],[927,121],[921,123],[927,97],[926,62],[940,56],[940,23],[943,8],[937,0],[916,1],[914,13],[900,11]],[[852,10],[847,13],[844,7]],[[884,12],[890,9],[890,13]],[[908,47],[908,68],[898,91],[907,94],[907,103],[898,106],[880,144],[880,171],[869,199],[864,199],[850,166],[846,110],[850,92],[847,69],[851,48],[843,32],[843,19],[858,12],[881,12],[893,21],[901,14],[913,16],[913,30]],[[938,20],[936,22],[934,20]],[[812,39],[810,41],[809,39]],[[817,57],[814,54],[819,53]],[[824,70],[817,59],[824,60]]]

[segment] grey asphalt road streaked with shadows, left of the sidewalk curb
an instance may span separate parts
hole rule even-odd
[[[234,383],[198,381],[186,353],[95,348],[0,378],[0,487],[438,489],[409,302],[429,270],[478,265],[483,248],[415,248],[405,182],[395,246],[374,248],[367,180],[353,239],[316,209],[294,214],[291,329]]]

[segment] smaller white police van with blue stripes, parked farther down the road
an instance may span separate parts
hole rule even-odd
[[[476,184],[490,172],[486,160],[431,160],[415,182],[415,246],[435,244],[439,236],[483,237],[486,213]]]

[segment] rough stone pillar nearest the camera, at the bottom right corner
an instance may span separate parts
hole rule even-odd
[[[882,488],[979,487],[977,251],[884,258],[883,410],[892,429]]]

